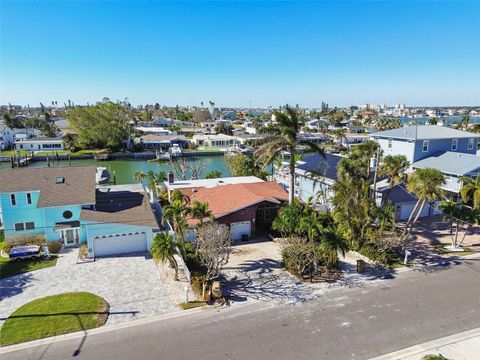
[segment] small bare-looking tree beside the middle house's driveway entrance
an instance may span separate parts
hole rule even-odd
[[[197,256],[206,268],[205,281],[217,278],[223,266],[228,262],[232,243],[228,226],[207,223],[197,231]],[[206,283],[203,290],[205,291]]]

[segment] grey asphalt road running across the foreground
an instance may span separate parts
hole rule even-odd
[[[367,359],[480,326],[480,259],[302,305],[233,305],[64,340],[6,359]]]

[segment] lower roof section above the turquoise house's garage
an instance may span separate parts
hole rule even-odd
[[[95,210],[82,209],[80,220],[158,228],[148,195],[135,191],[97,190]]]

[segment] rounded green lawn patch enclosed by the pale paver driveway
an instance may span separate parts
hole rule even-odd
[[[40,298],[8,317],[0,330],[0,345],[96,328],[105,324],[108,311],[105,299],[87,292]]]

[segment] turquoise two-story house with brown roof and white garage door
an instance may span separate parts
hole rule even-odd
[[[97,186],[95,167],[0,170],[5,237],[42,234],[93,257],[146,251],[159,222],[141,185]]]

